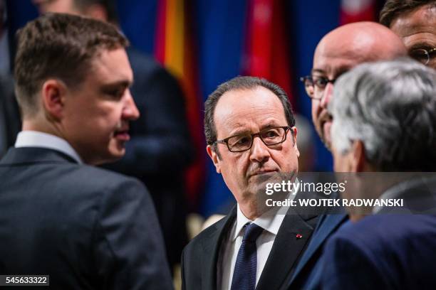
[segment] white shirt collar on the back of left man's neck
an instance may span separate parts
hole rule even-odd
[[[21,131],[16,136],[15,147],[39,147],[61,151],[79,164],[83,163],[77,152],[62,138],[40,131]]]

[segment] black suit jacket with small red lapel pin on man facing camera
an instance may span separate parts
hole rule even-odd
[[[227,235],[236,216],[235,207],[229,215],[200,232],[185,247],[182,254],[182,289],[217,289],[219,250],[223,242],[227,242]],[[284,289],[306,248],[317,219],[317,215],[294,212],[292,208],[289,210],[274,240],[257,290]],[[303,237],[298,239],[296,234]]]

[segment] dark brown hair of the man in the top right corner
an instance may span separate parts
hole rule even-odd
[[[388,0],[380,11],[380,23],[390,27],[392,21],[400,14],[408,13],[420,6],[436,5],[435,0]]]

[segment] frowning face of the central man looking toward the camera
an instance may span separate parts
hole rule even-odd
[[[214,110],[214,124],[218,140],[288,125],[279,98],[264,87],[224,93]],[[255,136],[251,149],[243,152],[230,152],[226,144],[217,144],[221,158],[207,147],[217,172],[238,203],[254,200],[256,193],[265,191],[265,183],[276,182],[271,180],[281,173],[298,171],[296,128],[292,131],[294,134],[287,131],[286,141],[273,146],[266,146]]]

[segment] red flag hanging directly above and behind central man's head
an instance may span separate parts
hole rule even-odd
[[[265,77],[282,87],[294,104],[286,1],[249,0],[244,75]]]

